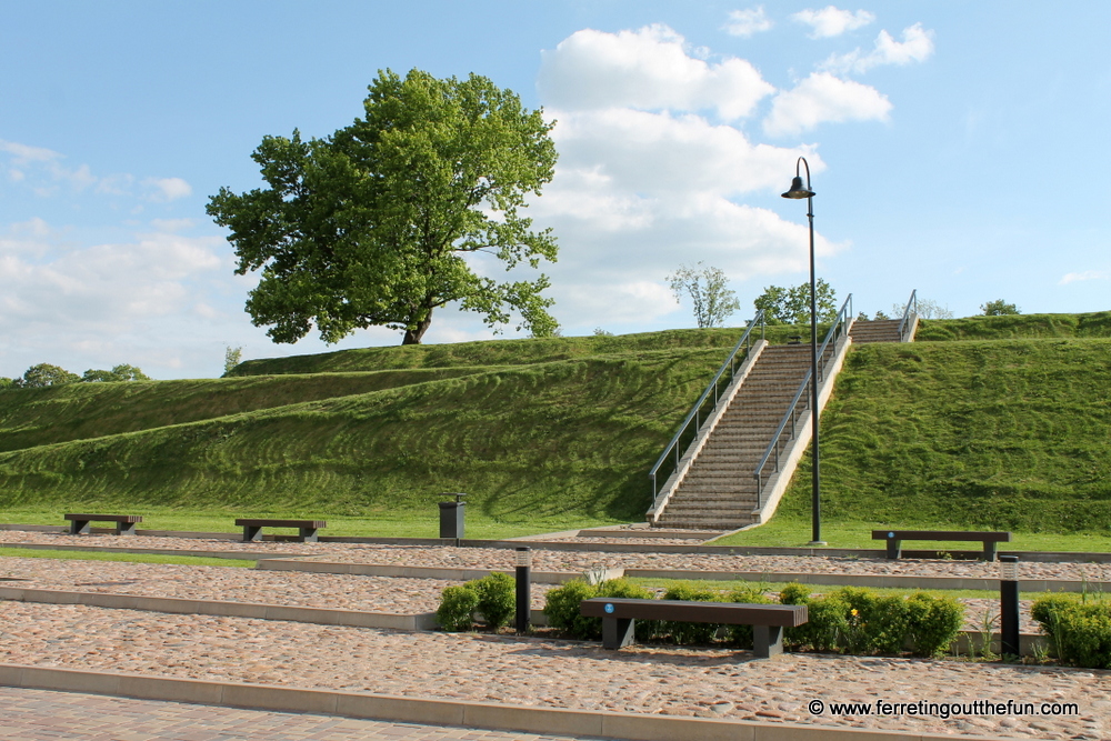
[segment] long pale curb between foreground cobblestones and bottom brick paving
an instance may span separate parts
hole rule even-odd
[[[591,735],[629,741],[953,741],[951,734],[871,731],[837,725],[732,721],[645,713],[565,710],[389,694],[309,690],[268,684],[97,672],[0,663],[0,685],[188,702],[276,712],[316,713],[403,723],[457,725],[541,734]],[[961,735],[968,741],[1003,737]]]

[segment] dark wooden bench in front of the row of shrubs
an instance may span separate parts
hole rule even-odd
[[[767,659],[783,652],[783,629],[807,622],[805,604],[747,604],[743,602],[687,602],[594,597],[579,611],[602,619],[602,648],[620,649],[633,640],[637,620],[752,625],[752,651]]]

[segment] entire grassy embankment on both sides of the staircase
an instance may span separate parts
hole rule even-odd
[[[370,348],[0,392],[0,520],[123,509],[230,532],[311,515],[327,534],[431,537],[441,493],[463,491],[469,537],[639,521],[648,469],[740,333]],[[991,528],[1019,533],[1011,548],[1107,550],[1109,337],[1111,312],[984,317],[854,349],[823,414],[825,539]],[[729,542],[809,541],[803,460],[773,521]]]

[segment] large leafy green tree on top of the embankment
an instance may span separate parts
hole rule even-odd
[[[267,188],[221,188],[208,206],[239,257],[261,271],[247,311],[276,342],[316,324],[337,342],[356,329],[404,330],[419,343],[432,311],[452,301],[498,328],[516,311],[536,337],[558,328],[549,286],[477,273],[472,253],[506,270],[556,260],[550,230],[521,216],[551,181],[554,121],[510,90],[471,74],[379,72],[366,114],[326,139],[266,137],[253,153]]]

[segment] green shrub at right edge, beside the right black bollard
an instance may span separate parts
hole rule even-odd
[[[1035,601],[1030,614],[1062,663],[1111,669],[1111,604],[1053,594]]]

